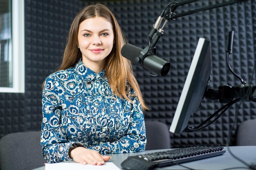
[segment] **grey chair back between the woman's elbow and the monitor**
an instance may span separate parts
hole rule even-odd
[[[163,122],[145,121],[147,144],[145,150],[170,149],[171,139],[168,126]]]

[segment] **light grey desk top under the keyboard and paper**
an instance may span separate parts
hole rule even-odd
[[[188,163],[182,163],[182,165],[197,170],[222,170],[226,168],[236,168],[236,170],[245,170],[246,166],[240,161],[236,160],[230,154],[227,147],[225,147],[226,153],[221,156],[211,157],[207,159],[201,159],[198,161],[192,161]],[[249,165],[256,165],[256,146],[231,146],[229,147],[231,153],[242,159]],[[152,153],[158,150],[147,150],[143,153]],[[126,153],[126,154],[111,154],[112,159],[110,162],[115,163],[116,166],[121,168],[121,162],[124,161],[128,156],[141,155],[143,153]],[[237,168],[240,167],[240,168]],[[243,168],[244,167],[244,168]],[[36,168],[34,170],[44,170],[45,167]],[[154,170],[184,170],[186,168],[182,166],[168,166],[164,168],[155,168]]]

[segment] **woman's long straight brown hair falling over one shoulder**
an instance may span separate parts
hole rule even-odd
[[[67,40],[67,45],[63,55],[63,61],[59,70],[65,70],[73,67],[82,57],[78,48],[78,30],[79,24],[92,17],[103,17],[112,24],[114,33],[114,46],[106,59],[105,72],[111,89],[117,96],[130,100],[128,95],[128,86],[130,85],[136,92],[143,110],[148,109],[143,100],[139,85],[133,75],[131,62],[121,55],[121,48],[126,43],[124,34],[117,23],[114,14],[103,4],[89,5],[83,8],[74,18]]]

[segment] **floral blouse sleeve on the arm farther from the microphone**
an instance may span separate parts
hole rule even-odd
[[[42,105],[43,121],[41,128],[42,153],[49,163],[70,160],[68,150],[74,142],[68,142],[61,122],[61,88],[50,75],[44,85]],[[76,146],[75,144],[73,146]]]

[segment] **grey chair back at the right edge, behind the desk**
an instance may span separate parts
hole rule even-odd
[[[236,133],[236,146],[256,145],[256,119],[242,122]]]

